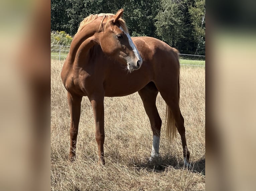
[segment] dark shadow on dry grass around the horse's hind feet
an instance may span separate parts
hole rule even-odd
[[[169,167],[173,167],[174,169],[187,169],[187,167],[184,167],[184,162],[177,160],[177,157],[173,155],[160,156],[154,158],[152,161],[149,161],[149,159],[142,161],[141,159],[133,158],[130,165],[136,170],[146,169],[154,172],[164,172],[167,171]],[[191,168],[188,170],[193,173],[205,175],[205,156],[197,161],[191,161]]]

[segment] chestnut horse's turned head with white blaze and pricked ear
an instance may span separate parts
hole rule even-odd
[[[124,10],[120,9],[115,15],[109,14],[106,19],[103,17],[99,43],[106,55],[126,64],[129,71],[138,70],[142,58],[132,42],[124,20],[120,18],[123,12]]]

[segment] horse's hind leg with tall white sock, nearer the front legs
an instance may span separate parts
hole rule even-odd
[[[159,155],[159,142],[162,120],[156,108],[156,96],[158,90],[153,82],[147,84],[143,89],[138,91],[150,121],[151,129],[153,132],[153,143],[150,160]]]

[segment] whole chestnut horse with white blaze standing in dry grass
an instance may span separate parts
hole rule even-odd
[[[167,104],[166,135],[172,139],[178,129],[187,165],[190,154],[179,109],[178,51],[155,38],[131,38],[121,18],[123,11],[85,18],[71,43],[61,71],[71,115],[69,159],[73,161],[76,155],[82,97],[88,96],[92,104],[99,162],[105,165],[104,96],[135,92],[143,101],[153,131],[150,159],[157,157],[162,121],[156,108],[156,96],[160,92]]]

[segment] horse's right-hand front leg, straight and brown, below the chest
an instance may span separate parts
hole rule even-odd
[[[99,164],[105,165],[104,158],[104,96],[90,97],[90,101],[93,108],[94,120],[95,120],[95,137],[98,144]]]

